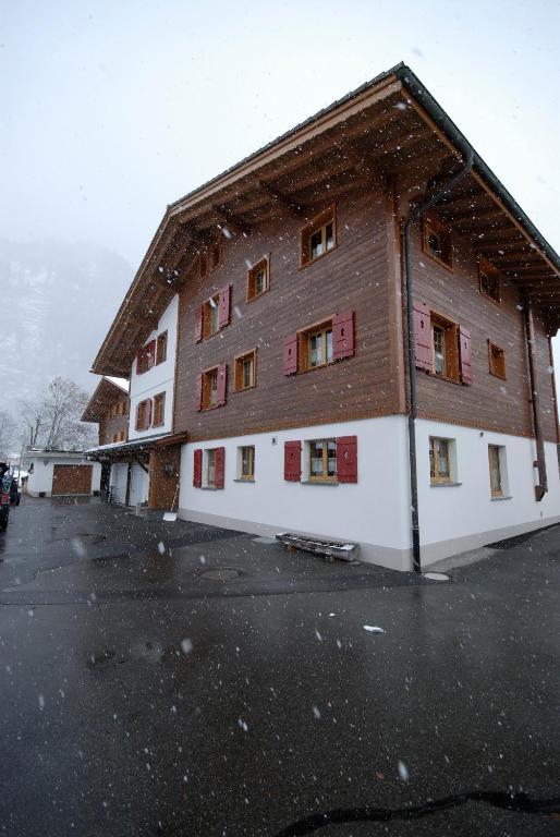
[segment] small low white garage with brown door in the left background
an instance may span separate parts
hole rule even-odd
[[[27,494],[31,497],[97,496],[101,465],[82,451],[29,450]]]

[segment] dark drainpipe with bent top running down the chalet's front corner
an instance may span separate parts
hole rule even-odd
[[[412,272],[411,228],[423,215],[435,206],[443,195],[449,195],[456,184],[471,171],[473,151],[466,148],[461,169],[449,178],[431,197],[423,204],[411,207],[403,227],[404,281],[406,287],[406,326],[409,343],[409,465],[411,481],[411,530],[412,562],[414,572],[422,572],[418,518],[418,477],[416,470],[416,364],[414,340],[414,283]]]

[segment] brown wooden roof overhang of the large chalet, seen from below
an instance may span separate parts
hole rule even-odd
[[[556,328],[558,254],[417,76],[399,64],[169,205],[93,371],[130,374],[136,350],[185,287],[217,230],[246,235],[279,211],[297,215],[303,225],[316,209],[313,194],[320,184],[328,182],[336,196],[338,189],[348,190],[348,177],[342,180],[349,172],[354,183],[403,172],[429,178],[467,154],[472,172],[445,210],[459,213],[459,202],[466,201],[461,225],[477,251],[546,308]]]

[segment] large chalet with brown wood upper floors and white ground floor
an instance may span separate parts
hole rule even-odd
[[[93,369],[151,507],[419,569],[560,520],[559,275],[401,64],[171,204]]]

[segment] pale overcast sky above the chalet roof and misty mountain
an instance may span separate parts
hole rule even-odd
[[[403,60],[560,250],[558,0],[0,14],[3,236],[89,240],[136,268],[168,203]]]

